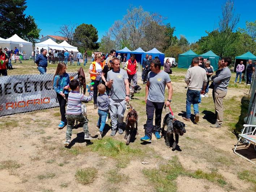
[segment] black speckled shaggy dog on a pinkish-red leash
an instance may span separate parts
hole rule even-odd
[[[179,142],[179,136],[182,136],[186,132],[185,124],[179,120],[174,119],[174,116],[172,116],[171,113],[168,113],[163,119],[162,134],[165,133],[166,125],[167,125],[167,130],[165,134],[166,136],[165,144],[168,147],[172,147],[172,150],[175,150]],[[175,134],[175,140],[174,140],[174,134]]]

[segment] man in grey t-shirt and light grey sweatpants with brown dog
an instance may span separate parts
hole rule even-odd
[[[110,136],[115,136],[117,127],[118,133],[123,134],[123,120],[126,109],[126,102],[129,102],[129,82],[127,72],[120,69],[118,58],[112,59],[113,69],[107,73],[107,86],[111,88],[110,93],[110,117],[112,132]]]

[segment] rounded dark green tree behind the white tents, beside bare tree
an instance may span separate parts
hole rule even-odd
[[[84,47],[85,50],[96,50],[99,48],[97,41],[98,31],[93,25],[81,24],[76,27],[74,42],[76,42],[78,48]]]

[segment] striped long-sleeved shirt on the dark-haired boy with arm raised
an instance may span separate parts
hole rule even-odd
[[[78,91],[71,91],[68,94],[68,106],[66,114],[69,115],[80,115],[82,113],[82,102],[81,101],[91,101],[93,99],[93,91],[90,91],[90,95],[87,97]]]

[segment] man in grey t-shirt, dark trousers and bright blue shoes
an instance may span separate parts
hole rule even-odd
[[[154,59],[150,61],[151,72],[148,74],[148,82],[146,84],[146,114],[147,114],[147,126],[145,136],[140,140],[144,142],[151,142],[152,133],[154,131],[157,139],[161,138],[161,116],[163,106],[165,104],[165,86],[168,88],[168,99],[166,106],[170,106],[172,97],[172,85],[171,79],[168,73],[161,70],[161,61]],[[153,127],[153,118],[155,111],[155,127]]]

